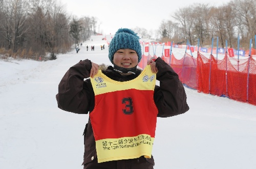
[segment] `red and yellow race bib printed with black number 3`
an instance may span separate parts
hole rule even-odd
[[[158,110],[156,74],[150,65],[130,81],[115,81],[101,70],[91,78],[95,107],[90,113],[98,162],[151,158]]]

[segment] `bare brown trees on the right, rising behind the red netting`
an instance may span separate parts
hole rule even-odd
[[[194,4],[175,11],[167,21],[162,21],[158,35],[162,41],[184,42],[191,45],[210,46],[212,38],[219,39],[219,47],[249,48],[250,39],[255,43],[256,1],[233,0],[212,7],[208,4]]]

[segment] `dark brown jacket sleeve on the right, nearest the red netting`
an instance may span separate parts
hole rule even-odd
[[[188,111],[187,97],[178,74],[161,58],[156,61],[157,80],[160,87],[155,87],[154,100],[158,108],[158,117],[171,117]]]

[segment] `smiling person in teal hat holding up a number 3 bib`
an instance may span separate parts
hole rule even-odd
[[[130,29],[116,32],[109,59],[114,66],[106,70],[88,59],[72,66],[59,83],[58,107],[89,112],[83,168],[153,168],[157,117],[188,111],[184,87],[161,58],[149,60],[144,70],[137,68],[141,46]]]

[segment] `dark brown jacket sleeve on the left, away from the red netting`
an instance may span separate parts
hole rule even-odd
[[[92,64],[90,60],[80,61],[72,66],[62,77],[56,95],[58,107],[76,114],[88,114],[94,97],[90,79]]]

